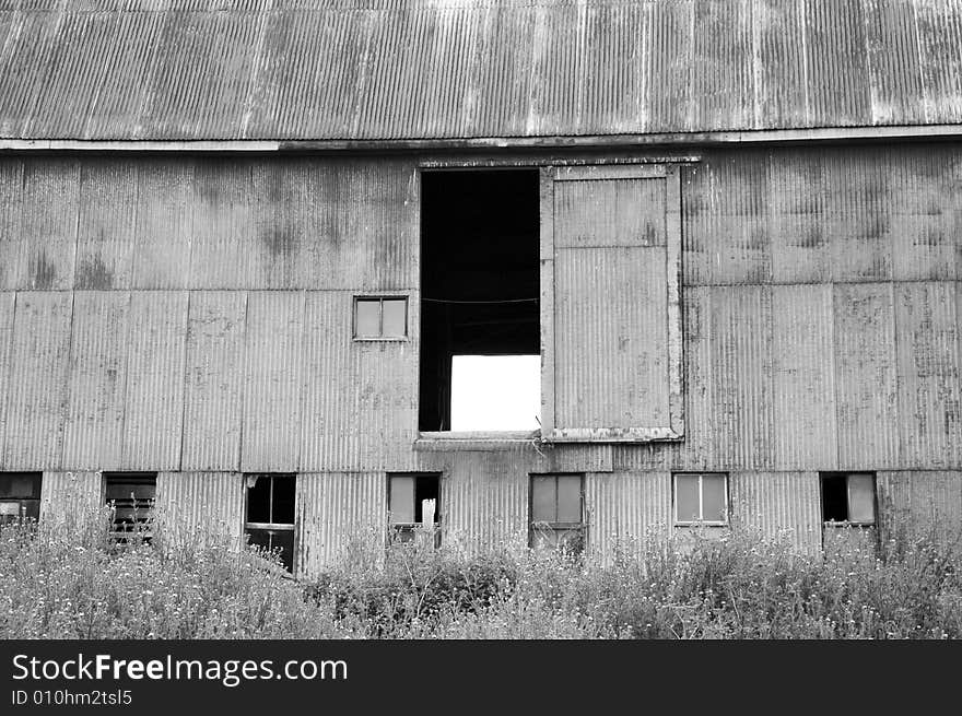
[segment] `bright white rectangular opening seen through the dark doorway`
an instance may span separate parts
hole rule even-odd
[[[455,355],[451,361],[453,431],[539,427],[540,355]]]

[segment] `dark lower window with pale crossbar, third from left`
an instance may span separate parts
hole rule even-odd
[[[251,473],[247,485],[244,531],[250,544],[279,553],[288,572],[294,571],[296,478],[293,474]]]

